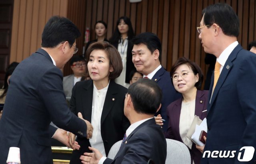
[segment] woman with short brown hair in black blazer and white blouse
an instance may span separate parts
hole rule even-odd
[[[77,82],[72,89],[70,109],[76,115],[82,113],[93,126],[90,140],[77,138],[80,150],[74,150],[70,164],[81,163],[88,146],[100,147],[108,156],[111,146],[123,139],[130,126],[124,116],[124,99],[127,89],[114,82],[122,72],[122,59],[108,42],[92,43],[86,51],[86,62],[91,80]],[[74,134],[70,134],[74,139]]]

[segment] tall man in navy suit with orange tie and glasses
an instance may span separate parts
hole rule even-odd
[[[217,57],[201,163],[251,164],[256,159],[256,55],[238,44],[239,19],[228,4],[206,7],[197,29],[204,51]],[[229,155],[220,158],[223,153]]]

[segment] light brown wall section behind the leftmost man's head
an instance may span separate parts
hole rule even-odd
[[[41,47],[47,20],[67,15],[68,0],[14,0],[10,63],[20,62]]]

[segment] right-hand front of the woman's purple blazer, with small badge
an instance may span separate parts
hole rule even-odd
[[[200,118],[202,118],[202,111],[206,110],[204,109],[204,103],[207,103],[204,98],[204,92],[197,90],[195,115],[199,116]]]

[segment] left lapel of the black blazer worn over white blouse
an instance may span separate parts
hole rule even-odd
[[[87,121],[92,121],[92,97],[93,97],[93,81],[90,80],[87,83],[88,85],[85,85],[82,91],[82,96],[80,99],[82,99],[83,102],[83,109],[84,109],[84,115],[83,118]],[[90,108],[90,109],[89,109]]]

